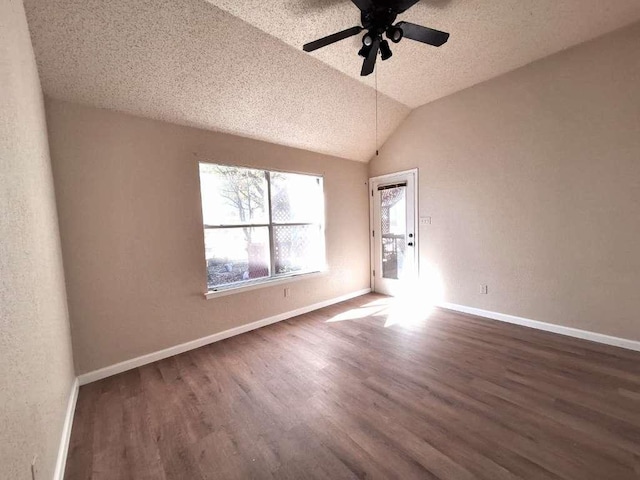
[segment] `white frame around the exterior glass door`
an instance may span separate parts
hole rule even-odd
[[[371,194],[369,195],[369,278],[371,280],[371,291],[375,292],[376,288],[376,275],[374,275],[375,267],[377,265],[376,262],[376,239],[374,237],[374,227],[375,227],[375,219],[374,219],[374,191],[377,190],[377,185],[384,184],[387,181],[399,177],[399,176],[412,176],[413,177],[413,238],[414,238],[414,258],[415,258],[415,272],[416,272],[416,281],[420,277],[420,228],[419,228],[419,212],[418,212],[418,169],[412,168],[410,170],[402,170],[400,172],[387,173],[385,175],[379,175],[377,177],[369,178],[369,190]],[[410,200],[410,199],[407,199]],[[377,272],[377,275],[381,275],[382,272]]]

